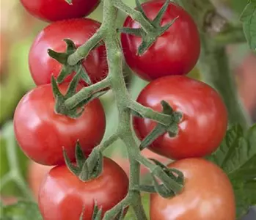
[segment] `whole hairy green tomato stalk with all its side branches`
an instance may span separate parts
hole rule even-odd
[[[73,97],[68,98],[65,101],[65,106],[67,108],[76,108],[78,103],[81,103],[84,99],[88,98],[88,95],[93,92],[97,92],[98,89],[103,89],[110,87],[114,93],[114,97],[117,101],[117,109],[119,111],[119,127],[117,133],[114,133],[106,142],[103,142],[95,150],[103,151],[116,139],[120,138],[127,147],[128,158],[130,161],[130,185],[127,197],[123,199],[114,208],[107,211],[104,220],[113,219],[117,213],[120,213],[123,208],[131,206],[134,209],[136,218],[143,220],[147,219],[145,215],[145,210],[142,207],[141,194],[140,194],[140,165],[144,165],[147,169],[152,172],[153,178],[158,178],[163,183],[162,185],[156,183],[156,190],[159,194],[163,194],[165,197],[170,197],[173,192],[178,193],[182,189],[182,184],[176,183],[167,172],[164,171],[163,167],[154,164],[147,158],[141,155],[139,146],[136,144],[134,139],[132,128],[131,128],[131,114],[133,111],[142,117],[148,117],[156,122],[163,125],[171,125],[172,117],[168,114],[158,113],[152,109],[148,109],[139,103],[136,103],[131,99],[128,94],[128,90],[125,87],[125,80],[122,75],[122,49],[120,48],[120,43],[117,35],[117,29],[115,25],[118,8],[125,8],[125,11],[134,15],[135,18],[145,24],[145,19],[142,16],[142,12],[135,10],[130,10],[122,1],[117,0],[106,0],[103,4],[103,23],[98,32],[92,36],[89,43],[85,43],[80,48],[76,50],[75,53],[71,54],[68,59],[68,65],[76,65],[84,56],[89,54],[89,51],[97,45],[100,40],[103,40],[106,45],[107,60],[109,65],[109,75],[107,78],[100,81],[98,84],[92,85],[90,87],[82,89]],[[129,14],[130,15],[130,14]],[[143,25],[142,25],[143,26]],[[145,31],[150,29],[145,25]],[[157,32],[157,29],[150,29],[150,32]],[[156,33],[154,33],[156,35]],[[87,45],[89,44],[89,45]],[[89,158],[88,158],[89,159]]]

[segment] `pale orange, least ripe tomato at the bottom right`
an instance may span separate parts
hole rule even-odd
[[[235,220],[235,197],[227,175],[201,158],[169,164],[185,175],[181,194],[164,199],[150,195],[151,220]]]

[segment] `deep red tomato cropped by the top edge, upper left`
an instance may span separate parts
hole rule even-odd
[[[48,22],[85,17],[99,3],[100,0],[73,0],[72,4],[67,4],[65,0],[21,0],[29,13]]]

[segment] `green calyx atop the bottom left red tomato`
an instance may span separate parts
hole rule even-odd
[[[63,149],[63,155],[67,168],[83,182],[97,178],[103,170],[103,154],[100,150],[92,150],[92,153],[87,158],[77,142],[76,165],[70,161],[65,149]]]

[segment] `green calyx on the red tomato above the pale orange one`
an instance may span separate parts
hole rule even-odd
[[[140,150],[145,149],[150,144],[152,144],[159,136],[163,135],[164,133],[169,133],[170,137],[174,137],[178,134],[178,124],[182,118],[182,113],[178,111],[174,111],[169,103],[165,100],[161,101],[161,106],[163,107],[162,114],[166,114],[170,116],[169,122],[167,125],[163,125],[158,123],[156,127],[151,131],[145,139],[142,140],[139,148]]]

